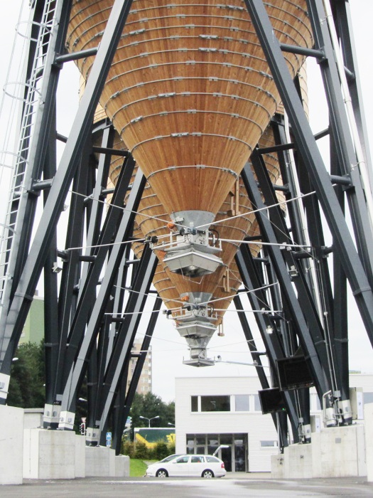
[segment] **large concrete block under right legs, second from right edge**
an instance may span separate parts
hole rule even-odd
[[[348,425],[312,435],[313,477],[366,475],[364,427]]]

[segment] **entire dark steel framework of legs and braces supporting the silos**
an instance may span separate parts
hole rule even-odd
[[[320,18],[325,16],[323,3],[319,0],[307,1],[315,39],[313,49],[281,45],[273,36],[273,29],[263,2],[261,0],[247,0],[245,3],[291,124],[293,142],[289,144],[283,133],[281,118],[276,116],[273,120],[277,142],[273,152],[277,154],[281,164],[281,173],[286,183],[284,191],[288,198],[294,194],[295,184],[291,176],[287,176],[285,166],[286,154],[289,149],[296,151],[298,183],[301,185],[301,191],[303,193],[315,191],[315,196],[312,199],[305,198],[303,200],[303,208],[308,220],[310,243],[315,251],[315,259],[318,260],[320,266],[318,288],[323,289],[322,311],[327,319],[323,320],[318,312],[320,308],[318,292],[320,291],[315,291],[309,280],[303,256],[297,250],[286,251],[284,254],[283,250],[276,245],[281,243],[283,233],[286,233],[288,238],[292,237],[294,243],[304,244],[305,241],[301,240],[301,213],[292,207],[288,209],[291,231],[286,227],[286,221],[280,209],[271,212],[270,221],[264,215],[264,208],[276,201],[276,194],[274,186],[264,174],[264,168],[261,164],[261,154],[264,151],[261,149],[256,149],[251,158],[256,171],[256,179],[249,166],[244,169],[242,178],[253,205],[261,208],[261,211],[256,215],[259,226],[261,226],[261,242],[270,245],[263,251],[263,261],[254,262],[242,249],[237,256],[237,263],[242,280],[246,280],[246,282],[251,282],[255,277],[259,285],[261,283],[260,275],[263,272],[263,275],[267,275],[266,278],[270,277],[279,283],[279,295],[273,295],[272,299],[277,300],[279,305],[283,307],[283,321],[281,324],[274,323],[272,318],[258,321],[258,327],[263,337],[266,337],[267,327],[271,326],[275,329],[276,340],[271,339],[266,344],[266,354],[269,357],[273,372],[276,373],[277,360],[281,357],[294,356],[296,347],[301,346],[303,354],[310,360],[319,397],[321,398],[325,393],[331,391],[339,401],[348,402],[346,280],[350,283],[367,334],[373,344],[373,277],[372,255],[369,252],[369,248],[372,247],[372,231],[366,202],[366,198],[371,197],[372,194],[367,189],[367,184],[363,183],[358,169],[350,166],[355,164],[357,159],[340,92],[340,75],[337,73],[335,65],[330,33],[325,23],[320,22]],[[350,74],[348,84],[360,139],[364,144],[365,131],[360,112],[360,94],[349,34],[350,18],[347,4],[348,2],[334,2],[332,6],[333,17],[345,57],[345,66]],[[43,2],[36,2],[36,13],[42,5]],[[105,315],[106,312],[112,312],[110,301],[114,297],[114,276],[117,275],[117,272],[123,272],[122,282],[126,281],[129,258],[124,249],[116,251],[113,248],[109,251],[104,248],[104,244],[116,238],[118,241],[129,242],[132,236],[134,217],[119,216],[114,210],[104,213],[102,208],[99,208],[98,203],[92,202],[92,199],[103,198],[108,194],[105,191],[108,158],[112,154],[120,153],[111,149],[112,127],[109,121],[106,120],[102,124],[94,125],[92,125],[92,121],[117,43],[126,23],[126,16],[131,8],[131,2],[115,1],[99,48],[90,51],[90,55],[96,53],[94,65],[72,131],[67,138],[63,156],[56,169],[55,88],[58,83],[58,71],[65,60],[83,58],[88,55],[88,53],[77,53],[73,56],[60,55],[63,53],[62,47],[69,19],[70,2],[61,1],[57,2],[57,5],[55,26],[58,28],[56,27],[55,38],[51,38],[53,43],[49,44],[44,69],[43,88],[45,102],[48,105],[43,108],[43,115],[40,118],[35,139],[35,152],[31,154],[30,171],[26,171],[31,185],[25,198],[21,201],[17,199],[20,206],[17,220],[20,240],[13,248],[11,260],[9,260],[9,268],[14,268],[14,271],[12,270],[12,285],[7,294],[0,322],[0,381],[4,383],[4,387],[0,388],[1,401],[6,402],[6,385],[9,381],[11,358],[18,344],[38,279],[43,267],[45,267],[47,405],[51,406],[53,411],[53,407],[60,407],[62,404],[65,414],[63,415],[63,426],[70,428],[71,423],[68,423],[67,419],[74,416],[77,392],[87,370],[87,364],[90,364],[92,385],[96,385],[104,378],[109,379],[109,384],[105,385],[104,389],[92,389],[89,401],[90,424],[94,428],[93,426],[97,425],[97,421],[99,421],[99,424],[102,424],[98,424],[99,428],[104,430],[114,404],[117,406],[117,430],[119,431],[120,428],[123,429],[123,413],[128,414],[130,403],[129,400],[126,401],[123,387],[119,386],[123,386],[123,379],[126,378],[126,367],[128,368],[129,354],[137,322],[135,320],[126,323],[126,333],[121,332],[124,334],[121,337],[126,344],[126,353],[123,357],[121,356],[119,367],[110,370],[111,362],[114,361],[115,355],[119,354],[116,352],[112,339],[110,339],[112,333],[110,330],[113,330],[114,327],[115,334],[119,333],[121,324],[113,326],[114,322],[102,324],[102,321],[104,316],[108,316]],[[317,137],[314,137],[310,130],[298,96],[298,89],[288,72],[283,58],[283,53],[286,51],[315,57],[320,62],[330,110],[328,134],[331,144],[330,171],[332,174],[325,168],[316,144]],[[33,50],[31,50],[30,58],[32,59],[33,56]],[[92,144],[92,137],[97,135],[102,140],[99,149],[97,146],[94,148]],[[92,159],[92,151],[102,154],[98,163]],[[127,157],[124,161],[123,174],[113,192],[114,198],[115,196],[117,198],[124,197],[124,191],[129,188],[131,180],[132,159],[130,154],[124,155]],[[43,167],[44,183],[35,180],[35,178],[40,177],[40,174],[35,172],[36,167]],[[75,199],[70,210],[66,248],[58,250],[55,231],[58,218],[63,210],[67,190],[72,181],[74,182],[74,191],[80,194],[80,198]],[[132,211],[136,211],[143,189],[144,178],[139,174],[132,186],[130,196]],[[30,227],[34,222],[35,206],[38,201],[35,193],[40,190],[44,190],[48,194],[45,195],[43,214],[31,244]],[[92,204],[87,208],[88,203],[91,202]],[[348,203],[350,213],[352,213],[353,234],[350,233],[345,219],[345,203]],[[323,211],[328,229],[333,236],[333,248],[325,248],[320,210]],[[102,225],[103,219],[105,220],[104,229],[100,230],[99,227]],[[87,223],[88,227],[86,234],[82,228],[84,223]],[[271,224],[277,228],[274,230]],[[68,250],[72,247],[82,247],[85,238],[87,245],[90,243],[102,247],[84,255],[82,251]],[[60,286],[58,286],[56,274],[50,273],[50,267],[55,262],[56,253],[64,261]],[[139,272],[141,267],[141,272],[144,273],[139,273],[142,275],[139,276],[139,282],[141,281],[145,290],[148,290],[156,263],[152,254],[149,255],[147,251],[144,253],[144,260],[139,265]],[[331,284],[330,270],[325,263],[328,253],[333,253],[334,288]],[[99,275],[107,255],[109,255],[109,265],[111,265],[109,266],[110,272],[113,273],[111,276],[105,275],[104,280],[99,282]],[[289,276],[292,267],[296,270],[294,279]],[[98,285],[100,290],[96,295],[95,289]],[[147,290],[146,292],[148,292]],[[144,306],[144,302],[130,301],[128,304],[129,312]],[[117,310],[121,309],[123,302],[124,295],[121,295],[116,303]],[[253,301],[252,307],[255,306],[259,307],[259,304],[255,304]],[[88,334],[85,332],[86,329]],[[102,340],[98,349],[93,345],[97,337]],[[109,344],[111,344],[110,347]],[[342,362],[336,361],[338,358],[342,358]],[[333,373],[330,373],[330,365],[333,365]],[[263,388],[266,388],[264,379],[262,385]],[[122,400],[119,405],[114,399],[116,396]],[[123,399],[125,400],[124,411],[121,412],[120,406]],[[286,393],[286,401],[294,432],[297,418],[307,420],[306,412],[308,410],[309,416],[309,408],[304,400],[296,402],[292,393]],[[297,404],[301,404],[301,410],[298,412]],[[333,399],[331,400],[332,405]],[[58,411],[60,408],[55,409]],[[338,414],[338,410],[340,408],[335,408],[336,414]],[[58,425],[57,420],[58,416],[54,417],[51,424]]]

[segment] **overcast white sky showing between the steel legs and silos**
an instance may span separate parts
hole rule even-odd
[[[1,88],[6,81],[7,67],[9,60],[16,59],[11,53],[13,45],[14,26],[18,18],[18,11],[21,6],[20,0],[1,0],[0,14],[3,23],[0,30],[1,66],[0,84]],[[28,5],[28,1],[24,3]],[[372,0],[351,0],[352,21],[355,29],[355,44],[357,49],[357,60],[360,70],[360,83],[364,95],[364,110],[368,120],[367,127],[369,135],[372,136],[372,75],[373,58],[370,53],[370,36],[372,30],[373,1]],[[22,30],[21,30],[22,31]],[[17,64],[17,63],[16,63]],[[317,65],[310,64],[309,91],[310,91],[310,120],[313,131],[324,129],[328,124],[328,115],[323,108],[322,92],[320,92],[320,82],[315,75],[318,72]],[[13,69],[14,71],[14,69]],[[66,65],[60,76],[60,93],[58,100],[60,109],[58,115],[58,132],[68,134],[70,123],[75,115],[77,105],[78,76],[72,64]],[[4,122],[8,122],[9,117],[1,116],[0,132],[4,135]],[[0,137],[0,144],[2,140]],[[3,179],[4,180],[4,179]],[[1,180],[1,199],[6,198],[8,187],[6,181]],[[4,209],[4,204],[0,202],[0,209]],[[367,339],[362,323],[355,305],[350,305],[350,369],[361,369],[362,371],[373,371],[372,366],[372,346]],[[148,315],[144,316],[139,332],[145,331]],[[251,320],[253,322],[253,320]],[[254,323],[254,322],[253,322]],[[261,348],[259,332],[254,325],[254,337],[258,338],[258,347]],[[246,376],[255,375],[254,367],[238,366],[233,364],[220,364],[205,369],[195,369],[183,365],[183,357],[189,358],[189,351],[186,343],[178,336],[173,328],[171,320],[167,320],[163,315],[158,319],[156,331],[152,340],[153,347],[153,392],[163,398],[164,401],[171,401],[174,398],[174,378],[175,376]],[[225,315],[225,337],[215,337],[210,341],[210,356],[222,356],[223,360],[252,361],[247,345],[244,342],[244,335],[239,325],[237,314],[228,310]]]

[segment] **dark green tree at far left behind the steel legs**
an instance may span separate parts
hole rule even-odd
[[[11,365],[7,403],[18,408],[43,408],[45,403],[44,344],[19,344]]]

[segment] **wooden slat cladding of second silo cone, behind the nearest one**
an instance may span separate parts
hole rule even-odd
[[[115,146],[118,147],[119,145],[120,141],[118,137]],[[259,147],[271,147],[273,145],[274,135],[271,132],[271,128],[269,128],[259,140]],[[264,154],[264,161],[271,181],[274,184],[281,184],[279,162],[276,155]],[[117,162],[114,159],[111,166],[111,177],[114,184],[121,167],[120,163],[117,164]],[[237,293],[242,283],[234,261],[237,248],[245,236],[249,235],[258,238],[260,236],[259,226],[254,214],[250,212],[252,211],[252,205],[242,182],[239,184],[239,205],[234,204],[235,210],[240,215],[231,218],[231,197],[233,195],[234,193],[232,192],[232,194],[228,194],[227,198],[225,198],[211,226],[211,228],[217,231],[220,238],[234,240],[234,242],[222,243],[221,256],[225,266],[220,267],[211,275],[191,279],[170,272],[168,267],[163,265],[162,260],[158,263],[156,275],[153,278],[153,285],[156,287],[158,294],[162,297],[168,309],[180,307],[180,295],[184,292],[210,292],[212,300],[216,300],[213,302],[215,309],[222,310],[217,311],[218,319],[215,324],[218,325],[222,321],[225,310],[229,307],[233,296]],[[278,198],[279,201],[283,200],[281,192],[278,193]],[[136,216],[136,231],[134,233],[136,238],[141,239],[149,235],[156,235],[158,238],[168,237],[170,233],[169,228],[167,228],[167,222],[169,221],[168,213],[166,213],[164,206],[149,184],[146,184],[146,188],[144,189],[138,212],[139,214]],[[221,224],[218,223],[220,221],[222,221]],[[137,257],[140,257],[143,247],[142,242],[134,243],[133,248]],[[260,249],[259,242],[250,244],[250,250],[254,256],[258,255]]]

